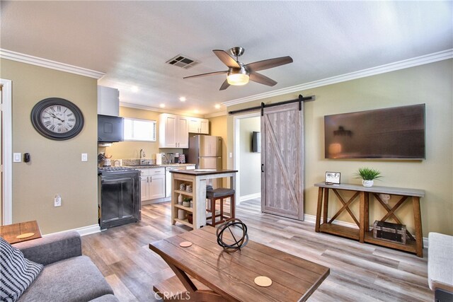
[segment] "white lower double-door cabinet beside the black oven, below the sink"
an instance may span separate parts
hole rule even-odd
[[[140,169],[142,201],[165,197],[165,168]]]

